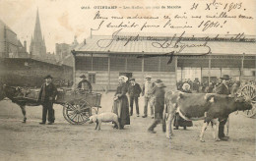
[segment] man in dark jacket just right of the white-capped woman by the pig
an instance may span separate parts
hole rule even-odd
[[[137,117],[140,116],[140,110],[139,110],[139,97],[140,94],[142,92],[141,86],[139,85],[139,83],[137,83],[135,81],[135,79],[131,79],[130,80],[130,84],[128,87],[128,93],[129,93],[129,97],[130,97],[130,116],[133,115],[133,102],[135,101],[135,106],[136,106],[136,113],[137,113]]]

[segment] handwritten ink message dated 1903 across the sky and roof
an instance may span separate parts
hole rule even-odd
[[[95,10],[95,27],[92,32],[100,30],[111,30],[110,38],[99,39],[96,45],[100,48],[109,47],[114,41],[122,41],[123,46],[129,45],[133,41],[150,40],[153,48],[168,49],[166,55],[179,55],[184,50],[201,48],[205,54],[211,53],[209,44],[209,33],[211,37],[218,39],[220,34],[229,34],[232,41],[241,41],[245,39],[243,32],[233,32],[232,27],[237,21],[243,21],[245,24],[254,21],[252,12],[248,12],[246,5],[242,1],[191,1],[190,5],[178,6],[170,4],[167,6],[92,6]],[[89,8],[89,7],[87,7]],[[105,10],[117,10],[112,14],[106,14]],[[158,15],[152,14],[154,10]],[[200,11],[200,12],[199,12]],[[145,36],[145,32],[165,32],[160,39],[151,39],[151,36]],[[135,35],[122,36],[122,32],[133,32]],[[201,37],[200,41],[188,43],[186,35],[195,32],[193,37]],[[205,35],[205,37],[202,35]]]

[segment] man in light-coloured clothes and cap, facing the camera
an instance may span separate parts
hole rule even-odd
[[[152,99],[154,99],[154,97],[152,95],[152,92],[155,86],[155,82],[151,81],[152,77],[149,75],[146,76],[145,79],[146,79],[146,82],[143,84],[143,88],[142,88],[142,96],[144,96],[144,102],[145,102],[143,118],[148,117],[148,104],[150,104],[150,107],[151,107],[151,116],[152,118],[154,118],[154,107],[152,103],[153,102]]]

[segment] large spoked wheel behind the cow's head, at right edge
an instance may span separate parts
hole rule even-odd
[[[249,97],[252,100],[253,107],[251,110],[245,110],[242,112],[242,115],[256,119],[256,86],[252,84],[246,84],[241,87],[241,95]]]

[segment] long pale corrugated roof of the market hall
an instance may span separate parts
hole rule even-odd
[[[127,36],[129,38],[129,36]],[[126,38],[127,38],[126,37]],[[139,39],[135,41],[127,40],[113,40],[110,43],[112,36],[105,35],[96,35],[93,38],[88,38],[86,43],[79,44],[75,51],[82,51],[85,53],[129,53],[129,54],[141,54],[144,52],[145,54],[164,54],[169,53],[171,51],[177,51],[180,48],[161,48],[159,43],[163,43],[163,40],[147,40]],[[166,37],[164,37],[166,39]],[[173,40],[172,44],[175,43],[176,40]],[[183,44],[186,45],[200,45],[203,44],[204,41],[199,40],[182,40]],[[166,45],[166,43],[165,43]],[[211,52],[213,54],[221,55],[239,55],[245,53],[246,55],[255,55],[256,54],[256,43],[254,42],[231,42],[231,41],[208,41],[207,45],[211,48]],[[201,47],[186,47],[179,54],[203,54],[207,53],[209,48],[206,46]]]

